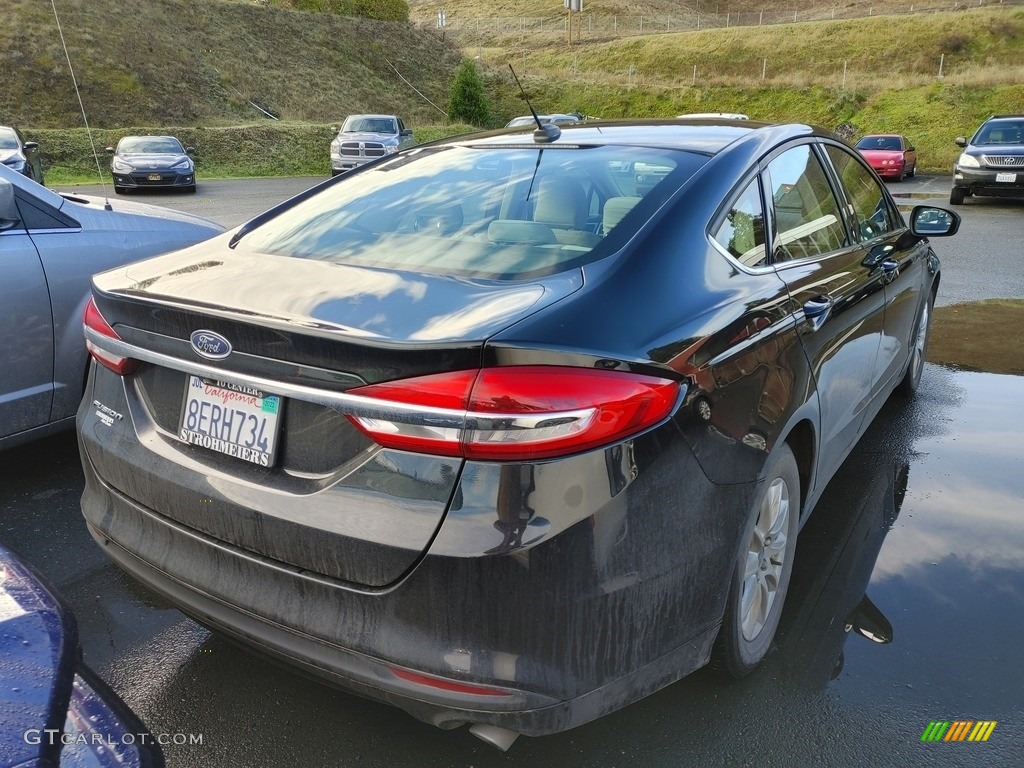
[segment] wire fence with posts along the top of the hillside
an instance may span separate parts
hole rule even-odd
[[[941,11],[965,10],[968,8],[998,5],[1020,5],[1024,0],[964,0],[963,2],[909,2],[904,6],[873,6],[867,8],[840,8],[833,6],[783,10],[766,8],[744,13],[707,13],[696,9],[682,9],[680,13],[657,15],[605,15],[578,13],[572,20],[573,39],[608,38],[635,35],[657,35],[673,32],[689,32],[730,27],[764,27],[801,22],[822,22],[827,19],[864,18],[871,15],[894,15],[909,13],[938,13]],[[419,20],[420,29],[437,28],[437,20]],[[444,31],[454,35],[470,34],[476,38],[506,37],[526,34],[568,34],[566,13],[550,16],[489,16],[469,17],[444,14]]]

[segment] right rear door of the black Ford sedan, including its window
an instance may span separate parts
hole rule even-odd
[[[883,275],[864,265],[812,143],[785,148],[765,176],[772,263],[804,312],[799,333],[817,384],[818,476],[826,479],[856,442],[877,387]]]

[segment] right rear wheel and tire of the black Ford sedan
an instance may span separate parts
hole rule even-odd
[[[711,668],[739,678],[768,654],[790,588],[800,528],[800,472],[780,442],[748,515]],[[745,606],[745,607],[744,607]]]

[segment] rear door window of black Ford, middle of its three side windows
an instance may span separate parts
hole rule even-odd
[[[836,196],[810,144],[795,146],[771,161],[768,177],[775,219],[774,261],[813,258],[849,245]]]

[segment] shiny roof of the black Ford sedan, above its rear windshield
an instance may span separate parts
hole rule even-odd
[[[774,125],[753,120],[726,119],[701,120],[699,122],[685,122],[676,119],[590,121],[560,127],[561,135],[559,138],[550,144],[538,143],[537,146],[617,144],[716,155],[729,144],[748,136],[761,136],[768,141],[780,141],[791,136],[831,135],[827,131],[808,125]],[[532,131],[531,126],[507,128],[459,137],[445,141],[445,143],[500,145],[509,143],[510,137],[516,137],[516,143],[534,143]]]

